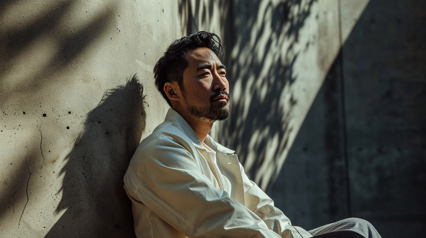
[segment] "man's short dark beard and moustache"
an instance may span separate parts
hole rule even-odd
[[[225,94],[228,97],[228,102],[219,102],[217,108],[213,107],[213,99],[222,94]],[[223,121],[228,119],[231,114],[229,101],[229,94],[227,94],[225,91],[219,91],[210,97],[210,107],[196,107],[195,105],[189,105],[187,111],[199,119],[207,119],[209,121]]]

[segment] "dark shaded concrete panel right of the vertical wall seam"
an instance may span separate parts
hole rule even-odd
[[[426,225],[425,9],[371,0],[343,47],[351,207],[383,237]]]

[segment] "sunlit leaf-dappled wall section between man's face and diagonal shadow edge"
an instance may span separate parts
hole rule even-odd
[[[351,19],[368,0],[347,10]],[[337,56],[339,1],[233,1],[230,119],[216,138],[262,189],[273,184]],[[351,29],[356,21],[348,21]]]

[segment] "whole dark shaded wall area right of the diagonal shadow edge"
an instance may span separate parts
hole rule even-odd
[[[423,9],[420,0],[371,0],[348,35],[268,190],[294,224],[311,229],[352,216],[382,237],[423,236]]]

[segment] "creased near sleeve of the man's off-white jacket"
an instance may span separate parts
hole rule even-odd
[[[126,176],[134,184],[132,196],[187,237],[280,237],[258,215],[214,187],[191,153],[170,136],[142,147]]]

